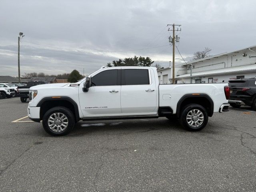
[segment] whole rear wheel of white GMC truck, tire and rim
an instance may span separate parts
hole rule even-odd
[[[189,104],[184,106],[180,115],[180,124],[186,130],[200,131],[208,122],[208,114],[206,109],[198,104]]]

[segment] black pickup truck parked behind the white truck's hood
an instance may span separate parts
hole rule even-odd
[[[48,84],[47,81],[29,81],[27,86],[20,86],[17,88],[17,97],[20,97],[22,103],[27,101],[29,88],[36,85]]]

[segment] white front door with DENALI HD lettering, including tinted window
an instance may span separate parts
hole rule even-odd
[[[80,108],[84,117],[121,114],[121,69],[106,69],[91,77],[88,92],[79,88]]]

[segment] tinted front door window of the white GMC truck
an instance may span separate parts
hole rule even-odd
[[[102,71],[92,77],[92,86],[114,86],[118,85],[117,69]]]

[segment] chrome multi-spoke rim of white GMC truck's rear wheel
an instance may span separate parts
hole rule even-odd
[[[192,109],[188,112],[186,119],[191,127],[199,127],[204,122],[204,114],[198,109]]]

